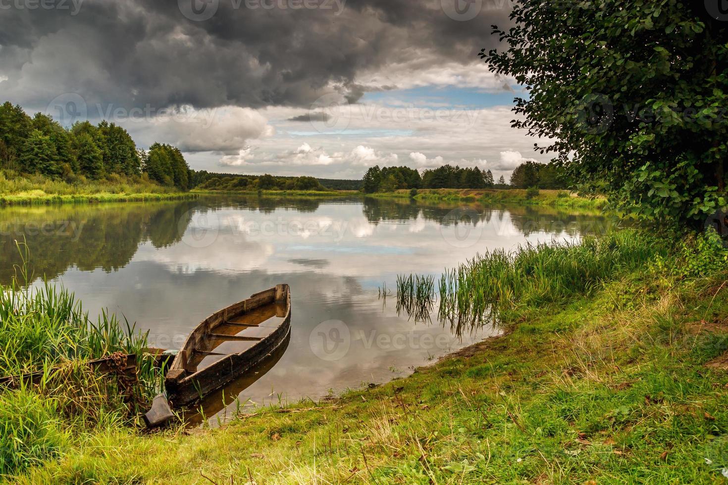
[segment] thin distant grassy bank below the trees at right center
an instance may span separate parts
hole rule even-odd
[[[371,193],[371,197],[411,198],[410,191]],[[419,201],[452,201],[480,202],[482,204],[500,205],[545,205],[569,209],[601,209],[606,205],[604,197],[579,197],[567,191],[542,190],[537,195],[529,196],[528,191],[521,189],[465,189],[465,188],[430,188],[417,191],[414,199]]]

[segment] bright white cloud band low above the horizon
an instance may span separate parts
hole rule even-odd
[[[395,92],[392,92],[394,95]],[[442,164],[490,169],[496,179],[532,156],[541,162],[548,155],[533,152],[534,140],[510,127],[513,112],[507,106],[435,110],[396,108],[368,103],[345,108],[347,126],[339,132],[319,132],[316,121],[291,121],[296,108],[267,108],[261,116],[274,127],[274,135],[246,140],[237,153],[189,156],[193,168],[214,171],[221,165],[247,174],[313,175],[326,178],[361,178],[374,165],[407,165],[417,169]],[[389,110],[389,111],[388,111]],[[377,113],[388,116],[378,116]]]

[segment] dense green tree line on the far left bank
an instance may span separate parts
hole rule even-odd
[[[138,150],[126,129],[106,120],[97,125],[78,121],[66,128],[44,113],[31,118],[9,102],[0,106],[0,164],[69,182],[80,176],[98,180],[146,174],[162,185],[192,187],[189,165],[172,145],[154,143],[149,151]]]

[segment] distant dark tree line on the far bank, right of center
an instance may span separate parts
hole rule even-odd
[[[409,167],[383,167],[368,169],[362,179],[365,193],[392,192],[397,189],[418,188],[566,188],[566,173],[556,164],[526,161],[516,167],[506,183],[502,175],[497,182],[490,170],[478,167],[443,165],[427,169],[422,175]]]

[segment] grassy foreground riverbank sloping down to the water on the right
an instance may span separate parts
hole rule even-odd
[[[17,480],[723,483],[725,252],[715,240],[610,237],[523,253],[507,263],[512,276],[485,258],[474,281],[490,275],[528,296],[500,294],[513,303],[505,334],[411,377],[215,430],[100,427]]]

